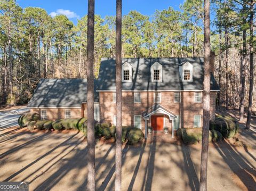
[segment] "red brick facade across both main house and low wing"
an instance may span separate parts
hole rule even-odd
[[[114,123],[116,115],[116,103],[114,103],[113,92],[100,92],[100,122]],[[203,95],[203,93],[201,93]],[[174,102],[174,92],[162,92],[162,101],[159,103],[173,114],[180,116],[180,127],[194,127],[194,115],[201,115],[201,127],[203,124],[203,96],[202,102],[195,102],[195,92],[181,92],[181,102]],[[215,95],[211,92],[211,119],[215,117]],[[145,129],[145,120],[142,118],[142,112],[147,111],[154,103],[154,92],[141,92],[141,103],[134,103],[134,92],[123,92],[123,126],[134,126],[134,115],[141,115],[141,128]],[[46,110],[47,119],[56,120],[65,118],[65,110],[69,109],[71,118],[86,117],[86,104],[81,104],[81,108],[48,108],[31,109],[31,112],[37,112],[41,115],[41,110]],[[150,119],[147,121],[147,127],[150,127]],[[164,127],[172,130],[172,120],[164,115]]]

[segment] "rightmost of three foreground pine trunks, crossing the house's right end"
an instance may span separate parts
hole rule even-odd
[[[204,99],[200,190],[207,190],[207,160],[210,122],[210,0],[204,0]]]

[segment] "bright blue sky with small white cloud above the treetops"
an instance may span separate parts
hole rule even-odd
[[[145,15],[153,15],[155,10],[167,9],[172,6],[179,10],[184,0],[123,0],[123,14],[137,10]],[[28,6],[41,7],[52,16],[66,14],[76,24],[76,20],[87,14],[86,0],[18,0],[17,3],[25,8]],[[95,14],[102,18],[116,14],[116,0],[95,0]]]

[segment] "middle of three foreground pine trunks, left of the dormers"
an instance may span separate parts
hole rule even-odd
[[[116,179],[115,190],[122,186],[122,0],[116,0]]]

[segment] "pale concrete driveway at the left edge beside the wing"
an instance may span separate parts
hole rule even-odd
[[[9,111],[0,111],[0,129],[18,126],[18,119],[20,115],[27,112],[29,112],[27,107]]]

